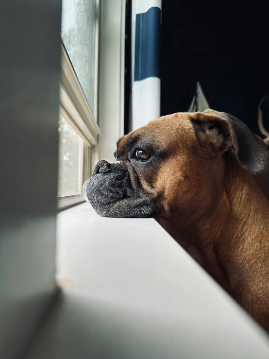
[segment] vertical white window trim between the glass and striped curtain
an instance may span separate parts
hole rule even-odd
[[[100,158],[114,161],[116,141],[124,135],[126,1],[102,1],[100,20]],[[113,31],[111,31],[113,29]]]

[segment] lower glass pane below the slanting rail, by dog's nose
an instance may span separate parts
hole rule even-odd
[[[60,114],[58,197],[81,193],[82,142]]]

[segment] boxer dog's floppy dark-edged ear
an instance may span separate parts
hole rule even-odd
[[[252,174],[260,174],[268,169],[269,152],[266,144],[242,121],[210,109],[189,115],[201,147],[215,154],[233,149],[239,164]]]

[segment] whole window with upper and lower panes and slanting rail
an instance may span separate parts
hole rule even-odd
[[[59,209],[83,202],[83,182],[98,160],[99,1],[63,0],[61,36]]]

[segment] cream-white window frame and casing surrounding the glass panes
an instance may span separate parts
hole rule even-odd
[[[84,139],[83,180],[99,158],[115,160],[116,142],[124,135],[125,8],[125,0],[96,1],[94,113],[61,46],[60,112]],[[82,194],[61,197],[58,209],[83,201]]]

